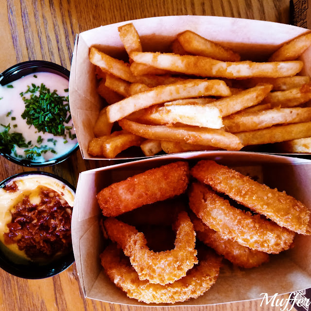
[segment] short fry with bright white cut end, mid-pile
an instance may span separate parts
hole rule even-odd
[[[223,127],[219,109],[213,105],[156,105],[145,109],[138,120],[155,125],[182,123],[208,128]]]

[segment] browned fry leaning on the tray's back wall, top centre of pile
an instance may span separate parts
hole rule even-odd
[[[207,40],[190,30],[177,35],[177,40],[186,52],[194,55],[206,56],[225,62],[238,62],[241,59],[238,53]]]

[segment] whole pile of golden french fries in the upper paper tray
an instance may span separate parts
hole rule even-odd
[[[142,52],[132,23],[118,30],[128,63],[94,47],[89,53],[98,93],[108,104],[94,126],[90,155],[115,158],[132,146],[152,156],[267,143],[311,152],[311,82],[297,75],[303,62],[296,60],[311,45],[311,34],[259,63],[241,61],[191,31],[177,35],[172,53]],[[111,133],[116,122],[121,130],[114,126]]]

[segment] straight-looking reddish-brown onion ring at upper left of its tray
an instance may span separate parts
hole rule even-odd
[[[127,211],[163,201],[187,189],[189,165],[179,161],[148,170],[104,188],[97,194],[103,215],[114,217]]]

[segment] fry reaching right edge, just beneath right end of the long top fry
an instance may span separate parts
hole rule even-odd
[[[258,85],[259,83],[272,84],[273,91],[286,91],[290,88],[303,86],[310,82],[308,76],[293,76],[293,77],[281,77],[281,78],[250,78],[246,80],[234,81],[234,86],[242,88],[250,88]]]

